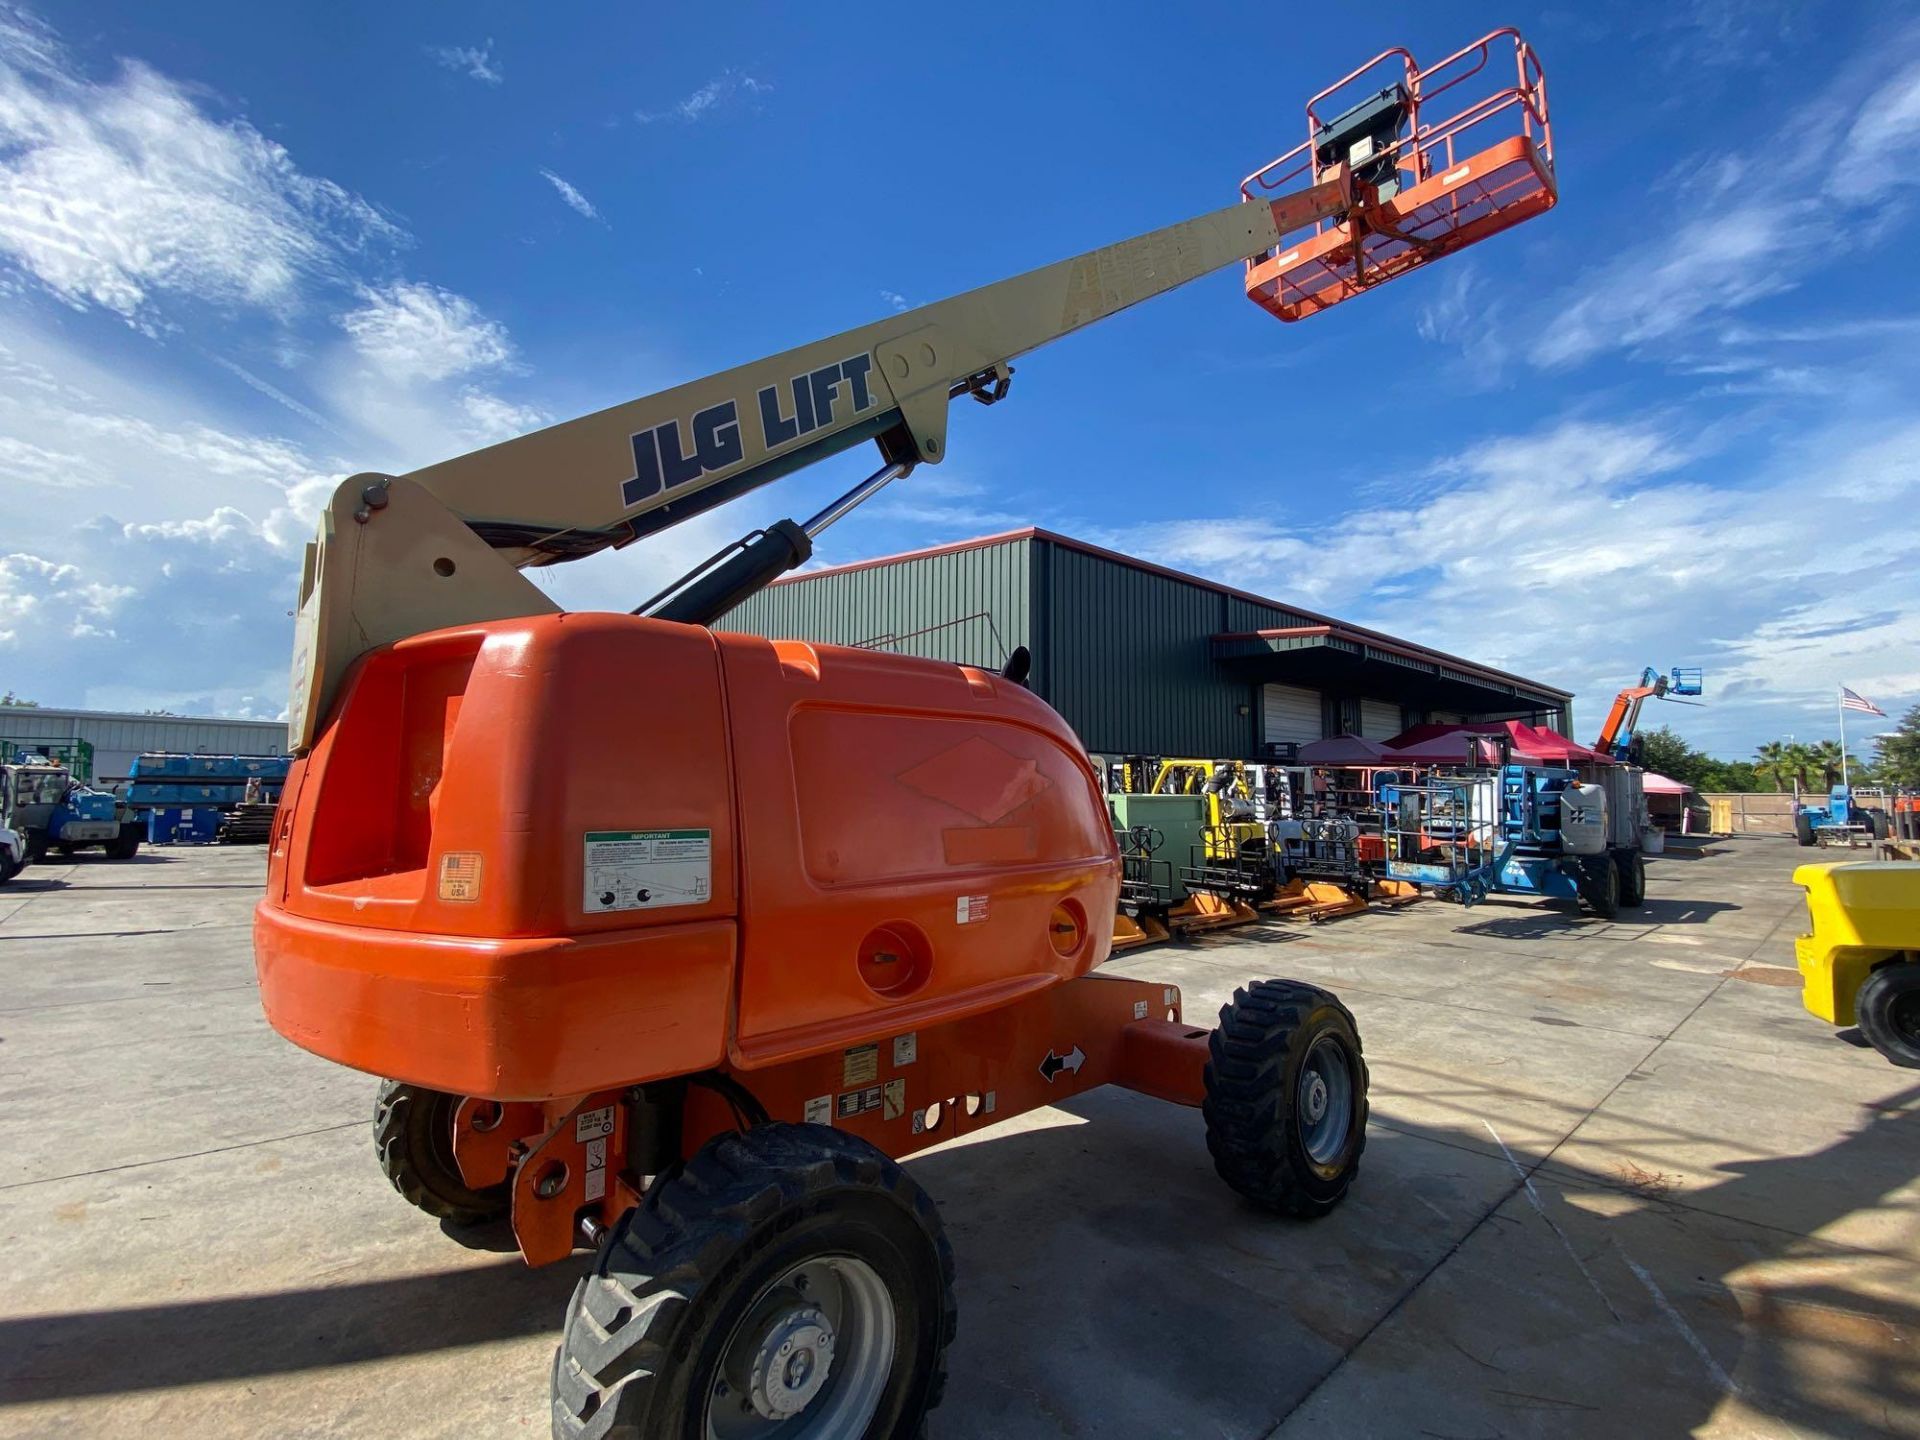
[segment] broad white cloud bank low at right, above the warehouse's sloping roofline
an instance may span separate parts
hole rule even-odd
[[[1812,733],[1839,680],[1889,710],[1920,699],[1920,597],[1901,584],[1920,563],[1916,453],[1920,420],[1868,444],[1837,422],[1751,474],[1678,419],[1582,420],[1490,440],[1405,505],[1311,528],[1260,515],[1085,534],[1557,684],[1582,732],[1642,666],[1703,664],[1707,708],[1655,722],[1740,755]]]

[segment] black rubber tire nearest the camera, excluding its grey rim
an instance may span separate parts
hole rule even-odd
[[[708,1140],[609,1233],[553,1356],[555,1440],[705,1440],[720,1356],[747,1306],[826,1254],[864,1260],[897,1308],[879,1409],[847,1440],[918,1436],[947,1388],[956,1321],[939,1210],[866,1140],[772,1123]]]

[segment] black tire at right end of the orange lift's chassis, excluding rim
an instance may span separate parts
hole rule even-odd
[[[1323,1037],[1346,1050],[1354,1094],[1346,1144],[1315,1164],[1300,1135],[1300,1068]],[[1352,1012],[1317,985],[1256,979],[1221,1006],[1208,1041],[1206,1148],[1215,1173],[1263,1210],[1315,1219],[1338,1206],[1367,1148],[1367,1062]]]

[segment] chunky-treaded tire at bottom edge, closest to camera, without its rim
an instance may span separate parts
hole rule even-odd
[[[770,1123],[708,1140],[682,1169],[657,1177],[609,1233],[593,1271],[574,1286],[553,1354],[555,1440],[680,1440],[668,1390],[730,1292],[783,1231],[849,1196],[897,1206],[931,1248],[939,1300],[924,1402],[885,1436],[870,1432],[872,1440],[922,1434],[925,1411],[945,1394],[958,1325],[954,1256],[939,1210],[866,1140],[828,1125]]]

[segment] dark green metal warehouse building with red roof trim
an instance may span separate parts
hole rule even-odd
[[[1569,733],[1572,695],[1046,530],[1014,530],[774,582],[716,624],[998,668],[1102,755],[1273,758],[1425,720]]]

